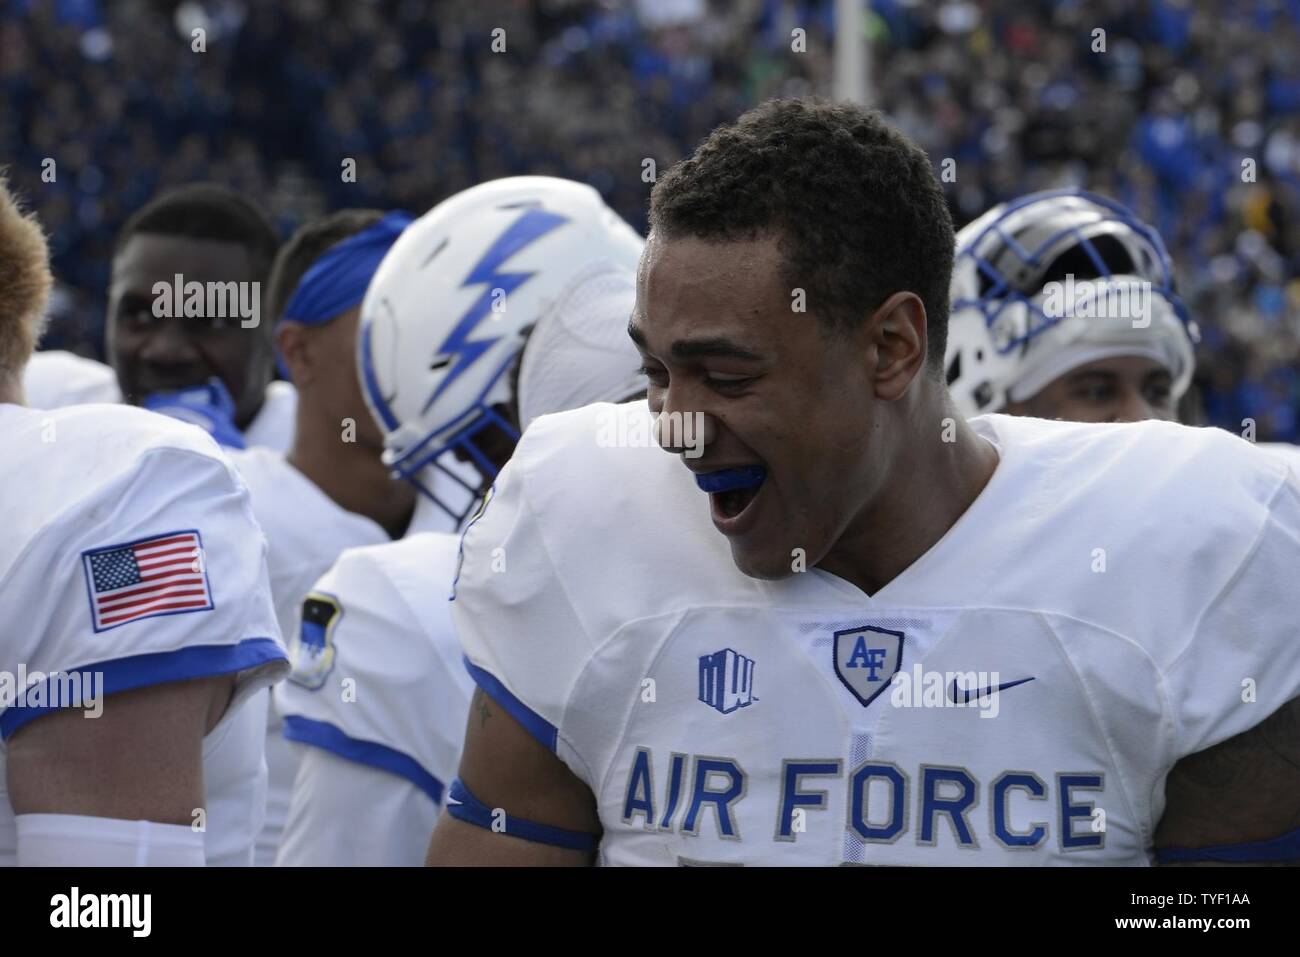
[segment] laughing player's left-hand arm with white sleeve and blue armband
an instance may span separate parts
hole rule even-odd
[[[534,494],[566,492],[533,471],[547,437],[545,428],[524,434],[462,538],[451,619],[477,688],[430,865],[595,859],[601,823],[588,783],[601,780],[603,758],[571,716],[588,707],[582,675],[601,642],[584,614],[584,583],[563,571],[566,550],[586,544],[533,507]],[[504,555],[500,566],[494,557]]]

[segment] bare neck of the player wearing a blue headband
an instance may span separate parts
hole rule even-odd
[[[341,508],[400,538],[415,510],[415,489],[391,478],[374,449],[348,438],[337,424],[312,420],[300,407],[285,458]]]

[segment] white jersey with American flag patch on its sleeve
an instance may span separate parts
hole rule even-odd
[[[243,482],[200,430],[124,406],[0,404],[0,620],[25,623],[0,635],[0,739],[78,685],[92,697],[237,674],[203,742],[204,845],[209,865],[251,863],[265,711],[244,702],[289,663]],[[34,672],[58,677],[26,688]],[[13,865],[4,754],[0,865]]]

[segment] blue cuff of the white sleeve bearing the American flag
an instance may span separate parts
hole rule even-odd
[[[75,679],[75,681],[81,689],[90,687],[91,693],[81,694],[88,701],[95,696],[95,692],[107,696],[135,688],[148,688],[155,684],[166,684],[168,681],[231,675],[277,661],[287,659],[280,642],[274,638],[244,638],[238,645],[191,645],[176,651],[114,658],[108,662],[61,671],[32,688],[23,689],[18,696],[18,702],[35,698],[43,703],[14,703],[0,713],[0,739],[8,741],[13,732],[43,714],[60,711],[65,707],[83,707],[81,700],[66,700],[69,683],[74,675],[84,676],[84,680]],[[103,676],[99,688],[95,687],[92,675]]]

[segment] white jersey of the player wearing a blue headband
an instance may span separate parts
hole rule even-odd
[[[248,485],[254,515],[266,536],[266,567],[270,594],[281,633],[298,631],[298,611],[334,559],[348,547],[387,542],[384,528],[365,515],[342,508],[334,499],[296,468],[283,454],[270,449],[230,451],[230,460]],[[276,848],[289,813],[289,794],[298,774],[298,757],[283,736],[283,723],[265,696],[266,765],[270,780],[266,793],[266,823],[257,839],[259,867],[276,862]]]

